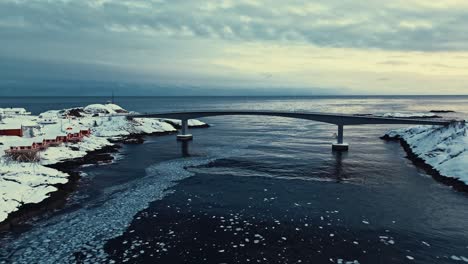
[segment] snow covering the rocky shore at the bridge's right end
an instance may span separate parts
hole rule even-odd
[[[390,138],[401,138],[412,152],[442,176],[468,184],[468,136],[464,122],[449,126],[415,126],[387,132]]]

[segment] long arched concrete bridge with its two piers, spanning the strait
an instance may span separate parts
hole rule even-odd
[[[378,124],[401,124],[401,125],[439,125],[445,126],[453,121],[446,120],[422,120],[416,118],[385,118],[376,116],[349,115],[349,114],[329,114],[317,112],[281,112],[281,111],[258,111],[258,110],[229,110],[229,111],[183,111],[165,113],[144,113],[129,115],[129,118],[167,118],[180,119],[181,129],[178,140],[191,140],[193,136],[188,134],[188,120],[212,116],[274,116],[311,120],[338,126],[337,141],[332,144],[333,150],[348,150],[348,144],[344,143],[344,126],[350,125],[378,125]]]

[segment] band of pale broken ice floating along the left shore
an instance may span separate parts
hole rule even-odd
[[[106,242],[121,236],[135,214],[146,209],[151,202],[172,193],[171,187],[178,181],[193,176],[194,172],[187,168],[245,155],[244,150],[236,148],[207,148],[206,151],[204,157],[153,164],[146,169],[145,177],[135,179],[137,182],[105,190],[108,199],[104,199],[102,205],[85,206],[41,221],[37,228],[7,243],[0,251],[11,252],[11,259],[16,263],[75,262],[74,254],[78,251],[85,256],[83,263],[107,263]],[[169,246],[156,243],[164,249]],[[28,247],[24,247],[26,244]]]

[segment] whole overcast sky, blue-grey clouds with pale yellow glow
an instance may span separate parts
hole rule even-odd
[[[467,0],[0,0],[0,42],[3,95],[468,94]]]

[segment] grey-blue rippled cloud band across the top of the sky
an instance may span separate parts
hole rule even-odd
[[[0,34],[50,38],[131,34],[227,40],[307,41],[388,50],[468,50],[468,11],[391,2],[2,1]],[[464,11],[465,10],[465,11]],[[27,34],[27,35],[26,35]]]

